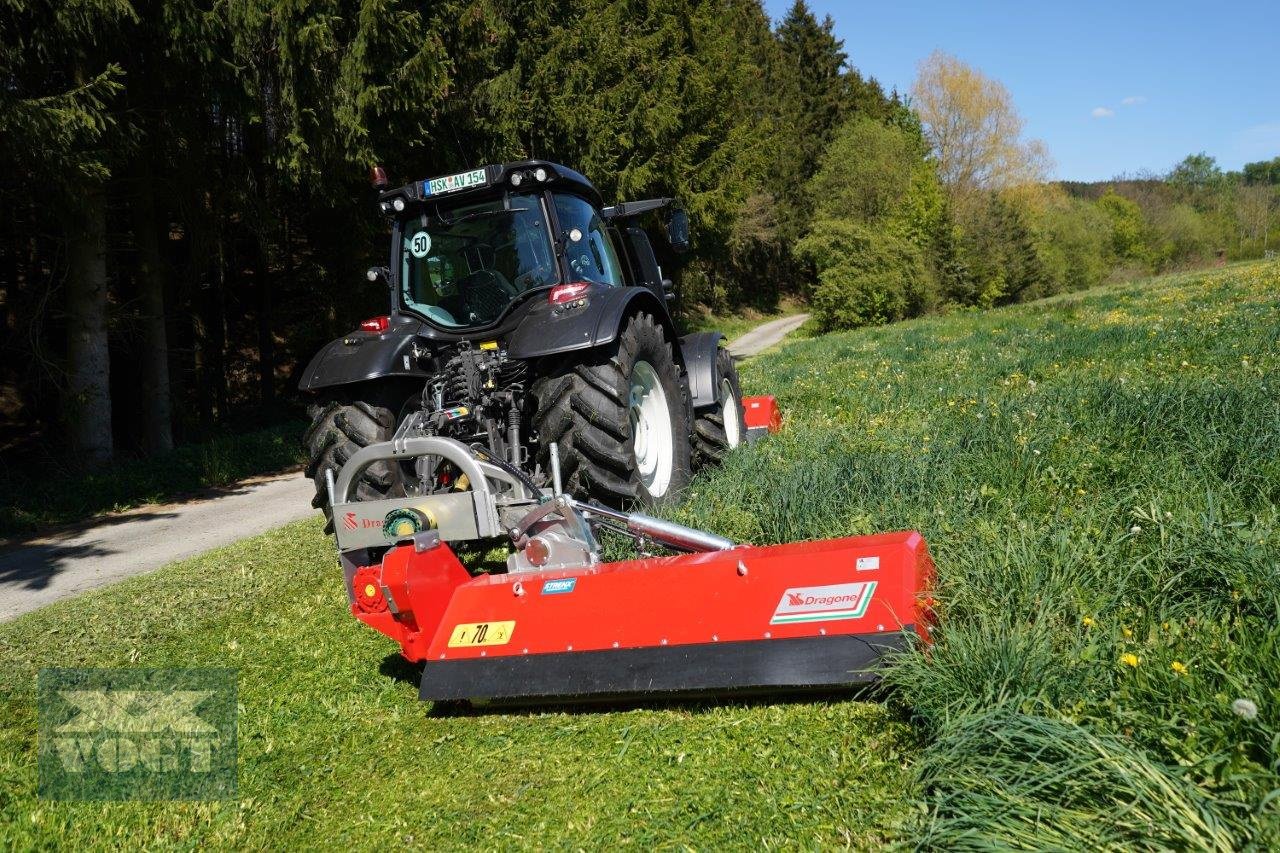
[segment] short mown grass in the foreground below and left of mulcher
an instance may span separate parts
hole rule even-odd
[[[910,726],[835,701],[434,716],[347,613],[303,521],[0,626],[6,847],[637,849],[874,845],[905,817]],[[223,803],[35,797],[44,666],[230,666]]]

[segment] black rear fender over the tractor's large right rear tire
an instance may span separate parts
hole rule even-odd
[[[507,355],[512,359],[538,359],[613,343],[626,319],[637,311],[652,314],[668,341],[677,339],[667,306],[653,291],[646,287],[598,286],[585,306],[567,314],[557,315],[545,300],[530,307],[511,334]],[[675,355],[680,362],[682,356],[678,348]]]

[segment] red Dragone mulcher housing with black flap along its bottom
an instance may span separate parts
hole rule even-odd
[[[424,699],[836,688],[927,637],[931,574],[918,533],[479,578],[425,538],[356,573],[353,612]]]

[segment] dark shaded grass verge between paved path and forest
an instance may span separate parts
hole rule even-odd
[[[163,503],[302,462],[288,421],[250,433],[218,435],[152,459],[122,460],[100,469],[20,466],[0,476],[0,537],[36,533],[101,512]],[[28,470],[35,467],[36,470]]]

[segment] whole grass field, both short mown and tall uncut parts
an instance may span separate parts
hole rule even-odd
[[[307,521],[0,626],[12,847],[1275,848],[1280,265],[801,341],[678,517],[916,528],[941,642],[878,701],[438,715]],[[42,666],[239,670],[234,802],[35,794]],[[1244,702],[1240,702],[1244,701]]]

